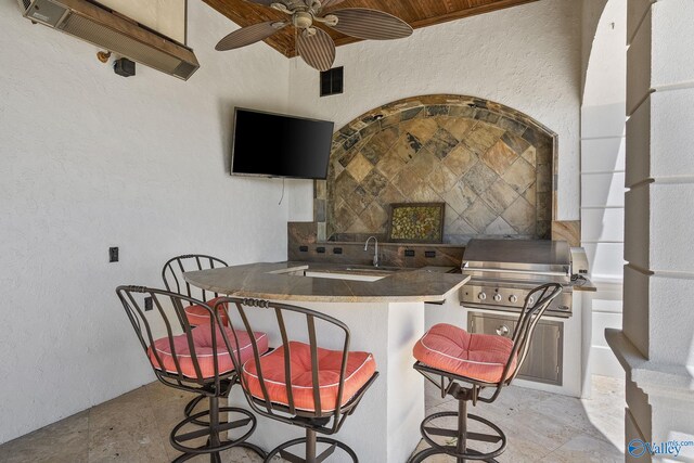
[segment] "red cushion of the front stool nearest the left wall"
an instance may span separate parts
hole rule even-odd
[[[221,337],[219,327],[217,327],[217,361],[219,374],[224,374],[233,371],[234,364],[227,349],[224,339]],[[245,331],[236,331],[236,337],[239,338],[239,347],[236,347],[236,340],[233,335],[233,331],[230,327],[224,327],[227,337],[231,348],[234,352],[241,352],[241,362],[247,361],[253,357],[253,345],[250,343],[250,336]],[[192,331],[191,337],[193,339],[193,347],[195,350],[195,358],[200,364],[200,370],[203,378],[210,378],[215,376],[215,361],[213,351],[213,331],[205,326],[198,326]],[[256,343],[258,344],[258,351],[265,353],[268,351],[268,336],[265,333],[255,333]],[[190,345],[185,334],[174,336],[174,348],[176,350],[176,358],[181,366],[181,373],[184,376],[197,378],[195,366],[193,364],[193,358],[191,355]],[[159,365],[154,350],[162,359],[163,366]],[[152,346],[147,349],[147,355],[152,361],[152,365],[157,370],[165,370],[169,373],[178,374],[176,369],[176,362],[174,355],[171,353],[171,343],[168,337],[163,337],[154,342],[154,350]],[[239,355],[239,353],[235,353]]]

